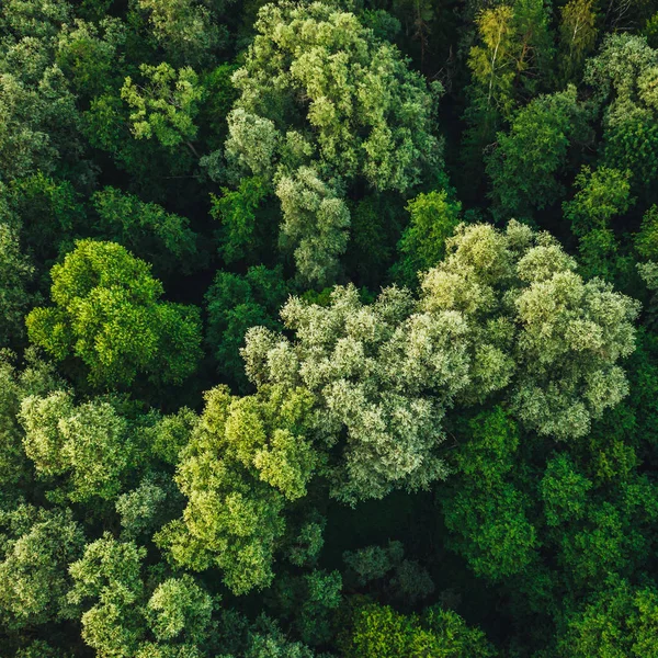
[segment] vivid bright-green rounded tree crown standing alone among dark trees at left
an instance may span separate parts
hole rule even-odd
[[[58,361],[80,360],[94,386],[138,374],[180,383],[201,355],[198,309],[160,302],[150,268],[114,242],[80,240],[50,272],[53,307],[27,316],[30,340]]]

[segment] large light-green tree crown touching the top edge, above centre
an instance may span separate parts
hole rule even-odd
[[[378,190],[404,191],[419,182],[423,160],[436,161],[432,95],[355,15],[320,2],[268,4],[256,29],[246,64],[234,75],[241,91],[236,106],[274,122],[285,166],[308,163],[315,151],[321,168],[348,180],[362,175]],[[287,132],[304,112],[300,103],[286,106],[299,94],[307,124]]]

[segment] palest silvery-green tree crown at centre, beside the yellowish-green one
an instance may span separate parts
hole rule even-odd
[[[282,309],[290,342],[264,328],[247,333],[243,355],[254,382],[305,386],[317,398],[314,432],[333,445],[333,495],[354,502],[394,487],[426,488],[445,474],[434,453],[445,405],[468,377],[468,328],[458,314],[410,315],[407,292],[385,291],[364,306],[353,286],[331,305],[291,299]]]

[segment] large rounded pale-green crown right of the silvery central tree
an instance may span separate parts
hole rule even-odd
[[[636,302],[600,280],[586,283],[575,269],[547,234],[515,222],[504,234],[462,226],[422,284],[426,304],[477,321],[484,383],[513,372],[510,402],[519,418],[558,439],[585,435],[592,417],[626,395],[615,362],[634,350],[638,311]],[[501,339],[509,341],[502,352]]]

